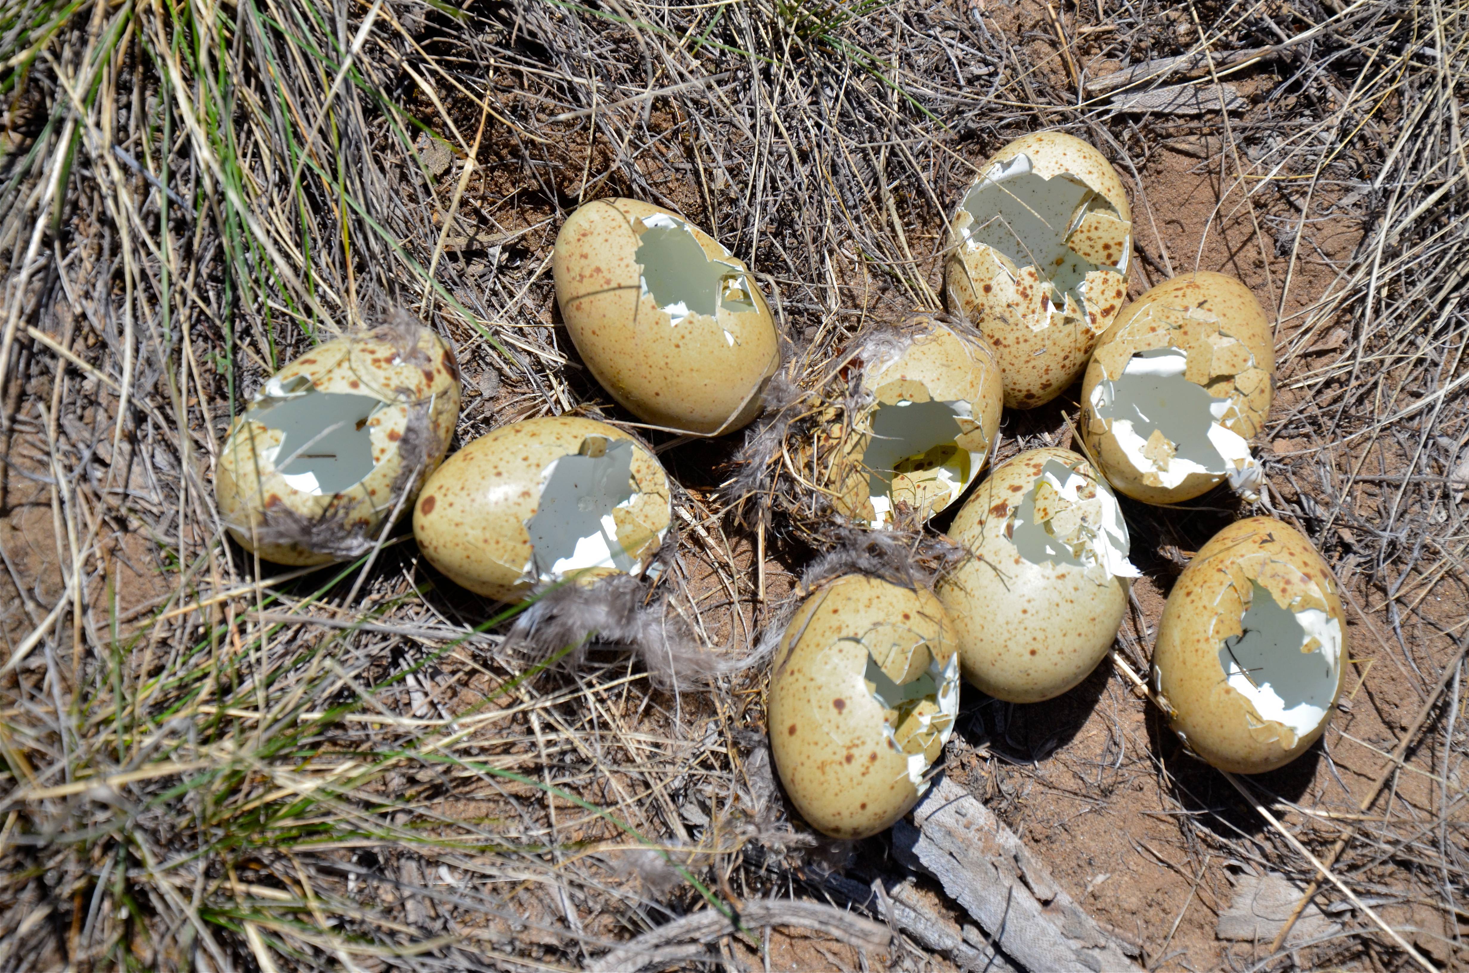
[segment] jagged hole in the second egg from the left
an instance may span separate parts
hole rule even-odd
[[[558,581],[593,567],[639,572],[639,551],[661,532],[617,516],[640,495],[632,460],[627,439],[586,437],[577,453],[554,460],[541,473],[541,500],[526,520],[530,572],[538,579]]]

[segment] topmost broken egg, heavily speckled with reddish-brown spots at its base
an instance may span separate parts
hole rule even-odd
[[[1106,157],[1061,132],[1005,146],[965,191],[945,292],[995,344],[1006,406],[1047,403],[1081,375],[1127,295],[1131,219]]]

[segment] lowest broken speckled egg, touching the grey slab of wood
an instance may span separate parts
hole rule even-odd
[[[802,603],[776,648],[767,716],[780,782],[812,827],[865,838],[918,801],[953,730],[956,648],[928,591],[846,575]],[[883,692],[912,698],[890,708]]]

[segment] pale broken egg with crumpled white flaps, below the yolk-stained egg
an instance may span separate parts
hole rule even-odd
[[[1046,448],[1002,463],[949,536],[974,554],[937,592],[971,685],[1040,703],[1096,669],[1137,569],[1116,497],[1084,457]]]

